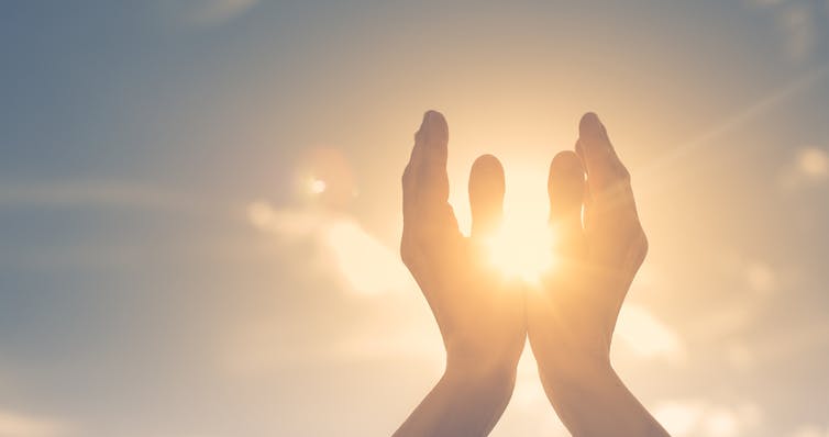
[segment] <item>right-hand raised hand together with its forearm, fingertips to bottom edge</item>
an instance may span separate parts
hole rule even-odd
[[[630,176],[595,114],[582,117],[578,131],[576,152],[560,153],[550,166],[559,264],[528,294],[530,345],[548,397],[573,435],[666,435],[609,358],[619,310],[648,251]]]

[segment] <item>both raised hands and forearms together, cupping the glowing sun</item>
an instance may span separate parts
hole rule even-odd
[[[404,172],[404,262],[446,349],[443,377],[395,436],[485,436],[504,412],[529,336],[544,391],[574,436],[666,436],[616,376],[614,327],[648,243],[628,170],[598,117],[550,166],[552,247],[560,262],[538,289],[502,278],[483,245],[502,215],[504,170],[490,155],[469,175],[471,237],[447,203],[449,130],[429,111]],[[584,223],[582,211],[584,209]]]

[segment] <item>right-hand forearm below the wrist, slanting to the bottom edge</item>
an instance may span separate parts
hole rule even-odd
[[[667,436],[609,360],[540,366],[539,371],[550,402],[573,436]]]

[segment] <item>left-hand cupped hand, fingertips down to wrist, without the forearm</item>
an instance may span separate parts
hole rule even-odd
[[[490,155],[473,165],[472,235],[463,236],[447,202],[447,142],[443,115],[427,112],[402,177],[400,254],[438,322],[447,368],[515,373],[526,338],[523,295],[493,269],[483,250],[501,220],[504,170]]]

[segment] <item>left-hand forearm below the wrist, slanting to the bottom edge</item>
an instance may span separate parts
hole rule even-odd
[[[438,384],[395,437],[486,436],[495,427],[516,382],[515,367],[446,366]]]

